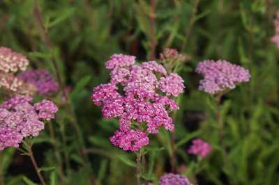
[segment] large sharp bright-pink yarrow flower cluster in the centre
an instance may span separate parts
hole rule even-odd
[[[156,61],[137,65],[135,56],[122,54],[114,54],[105,66],[111,81],[93,88],[91,99],[102,106],[105,118],[119,118],[120,129],[110,138],[114,145],[136,152],[159,127],[174,129],[169,112],[179,106],[171,96],[185,88],[179,75],[167,74]]]

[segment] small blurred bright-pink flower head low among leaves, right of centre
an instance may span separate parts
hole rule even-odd
[[[206,143],[204,140],[201,139],[195,139],[192,141],[192,145],[190,146],[188,153],[189,154],[195,154],[198,156],[207,156],[212,150],[211,145],[209,143]]]

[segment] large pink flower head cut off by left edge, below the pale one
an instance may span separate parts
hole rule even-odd
[[[33,98],[18,95],[0,104],[0,150],[18,147],[25,137],[38,136],[43,120],[54,118],[58,108],[47,100],[32,105]]]

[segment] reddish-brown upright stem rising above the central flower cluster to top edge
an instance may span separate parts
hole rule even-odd
[[[156,10],[156,0],[150,0],[151,10],[149,14],[150,21],[150,49],[151,55],[150,59],[154,60],[156,58],[156,35],[155,35],[155,10]]]

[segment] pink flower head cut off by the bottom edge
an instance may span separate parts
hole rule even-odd
[[[174,173],[167,173],[160,177],[160,185],[190,185],[187,177]]]

